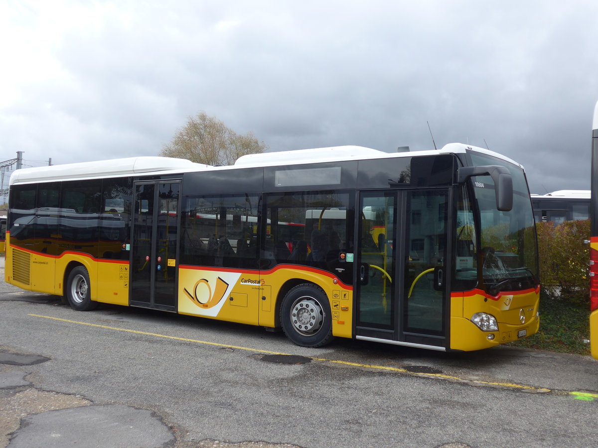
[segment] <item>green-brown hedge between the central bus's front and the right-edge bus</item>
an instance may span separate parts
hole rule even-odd
[[[590,220],[536,223],[540,281],[545,298],[589,305]]]

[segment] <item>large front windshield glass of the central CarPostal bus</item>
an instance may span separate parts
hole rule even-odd
[[[538,251],[532,203],[523,170],[490,155],[470,152],[474,165],[502,165],[511,172],[513,207],[496,209],[495,188],[490,176],[472,177],[475,203],[480,216],[482,277],[487,292],[535,288],[538,284]]]

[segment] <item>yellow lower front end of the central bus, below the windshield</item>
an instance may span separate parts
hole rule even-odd
[[[451,300],[461,294],[463,293],[456,293]],[[525,336],[534,335],[539,328],[538,305],[539,291],[536,290],[515,294],[502,293],[498,300],[479,290],[465,293],[461,316],[457,310],[459,306],[451,305],[450,348],[463,351],[490,348],[520,339],[520,332],[523,330]],[[469,319],[477,312],[492,314],[498,323],[498,331],[483,332],[475,326]],[[523,324],[521,315],[524,316]],[[493,335],[493,339],[489,339],[489,335]]]

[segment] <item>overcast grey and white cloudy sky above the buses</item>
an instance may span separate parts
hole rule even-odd
[[[0,0],[0,161],[157,155],[205,111],[270,151],[481,146],[590,188],[598,2]]]

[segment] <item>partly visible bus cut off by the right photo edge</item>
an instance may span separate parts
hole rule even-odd
[[[598,360],[598,102],[592,122],[592,173],[590,217],[590,346]]]

